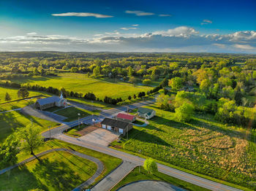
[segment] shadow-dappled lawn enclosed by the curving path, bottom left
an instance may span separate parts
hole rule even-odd
[[[51,152],[0,175],[0,190],[72,190],[89,179],[97,165],[69,152]]]

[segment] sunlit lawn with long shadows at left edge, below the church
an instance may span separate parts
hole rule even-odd
[[[0,114],[0,144],[7,136],[10,136],[16,128],[26,127],[26,125],[30,125],[31,123],[37,126],[41,131],[47,129],[48,126],[54,127],[57,125],[56,122],[24,115],[18,111],[2,113]]]

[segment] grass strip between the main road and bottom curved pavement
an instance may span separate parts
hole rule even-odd
[[[132,172],[130,172],[126,177],[124,177],[124,179],[122,179],[121,182],[118,182],[118,184],[116,184],[116,186],[113,187],[111,191],[115,191],[119,187],[124,186],[125,184],[139,181],[139,180],[157,180],[162,182],[169,182],[170,184],[176,185],[177,187],[182,187],[187,190],[194,190],[194,191],[207,190],[206,188],[198,187],[195,184],[191,184],[189,182],[176,179],[172,176],[168,176],[160,172],[154,172],[154,174],[148,174],[148,172],[145,171],[144,168],[141,166],[141,167],[136,167]]]

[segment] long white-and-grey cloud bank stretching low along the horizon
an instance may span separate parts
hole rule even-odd
[[[62,35],[11,36],[0,39],[0,51],[18,50],[256,53],[256,31],[204,35],[195,28],[180,26],[146,34],[113,31],[97,34],[91,39]]]

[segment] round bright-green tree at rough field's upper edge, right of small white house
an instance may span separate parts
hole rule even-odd
[[[175,115],[177,120],[182,122],[188,122],[194,112],[194,107],[191,104],[184,103],[175,109]]]

